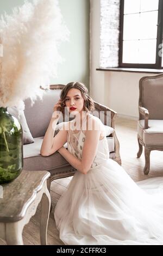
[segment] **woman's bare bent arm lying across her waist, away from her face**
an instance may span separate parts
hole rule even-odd
[[[95,122],[95,120],[93,120],[93,122]],[[100,133],[101,131],[97,131],[95,129],[92,129],[91,131],[86,131],[86,137],[82,152],[82,161],[77,159],[76,156],[72,155],[64,147],[60,148],[58,152],[67,160],[67,162],[69,162],[74,168],[79,170],[79,172],[86,174],[91,168],[93,160],[95,159]]]

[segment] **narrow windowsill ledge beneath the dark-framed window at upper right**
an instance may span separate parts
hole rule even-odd
[[[108,69],[96,69],[98,71],[116,71],[116,72],[134,72],[134,73],[163,73],[163,69],[133,69],[133,68],[108,68]]]

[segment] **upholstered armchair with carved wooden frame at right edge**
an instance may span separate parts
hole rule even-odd
[[[163,150],[163,74],[142,77],[139,90],[139,121],[137,123],[139,151],[137,157],[141,156],[142,146],[144,146],[145,168],[143,171],[148,174],[151,151]]]

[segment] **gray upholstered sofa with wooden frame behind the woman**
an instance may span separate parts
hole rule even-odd
[[[51,176],[47,182],[49,191],[53,180],[72,176],[76,172],[76,169],[74,169],[58,152],[47,157],[40,155],[43,136],[45,135],[49,121],[52,117],[53,107],[59,100],[61,90],[64,87],[63,84],[52,85],[50,87],[51,90],[45,90],[42,100],[37,99],[33,105],[30,99],[24,101],[24,114],[29,130],[34,138],[34,143],[23,145],[23,168],[25,170],[47,170],[50,172]],[[104,125],[107,123],[105,127],[107,128],[107,126],[110,126],[115,128],[116,112],[95,102],[95,111],[93,111],[92,114],[98,116],[100,111],[104,115]],[[106,119],[107,113],[110,113],[109,121]],[[58,123],[60,123],[60,121],[62,120],[59,119]],[[64,121],[66,120],[64,119]],[[108,140],[110,158],[121,164],[120,145],[115,130],[111,135],[106,137]],[[67,143],[64,147],[67,148]]]

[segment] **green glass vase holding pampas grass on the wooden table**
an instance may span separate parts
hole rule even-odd
[[[14,180],[23,169],[22,136],[18,120],[0,107],[0,184]]]

